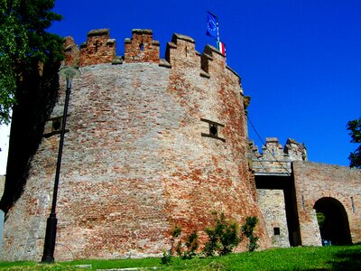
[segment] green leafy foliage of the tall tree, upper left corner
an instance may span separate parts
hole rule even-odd
[[[52,21],[61,20],[51,11],[54,5],[55,0],[0,2],[0,125],[10,122],[23,73],[33,69],[32,63],[61,59],[62,38],[45,31]]]

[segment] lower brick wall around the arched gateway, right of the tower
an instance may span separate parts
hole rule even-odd
[[[331,197],[342,203],[347,212],[351,238],[361,241],[361,171],[345,166],[293,163],[301,241],[305,246],[320,246],[319,226],[313,209],[316,201]],[[355,204],[352,209],[351,197]]]

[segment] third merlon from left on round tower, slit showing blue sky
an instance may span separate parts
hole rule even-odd
[[[149,29],[134,29],[132,39],[125,39],[125,62],[159,63],[160,42],[153,41],[153,32]]]

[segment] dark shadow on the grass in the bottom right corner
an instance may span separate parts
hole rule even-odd
[[[334,255],[332,261],[329,261],[332,266],[330,270],[361,270],[361,249],[355,247],[347,251],[341,251]]]

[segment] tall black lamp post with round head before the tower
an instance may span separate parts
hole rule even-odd
[[[45,241],[44,241],[44,250],[42,254],[42,263],[53,263],[54,262],[54,249],[55,249],[55,240],[56,240],[56,231],[57,231],[57,218],[56,218],[56,204],[58,198],[58,186],[59,186],[59,175],[60,175],[60,165],[61,165],[61,154],[62,146],[64,145],[64,135],[65,135],[65,126],[67,123],[67,114],[68,114],[68,105],[69,97],[71,91],[71,82],[72,79],[79,77],[79,70],[72,67],[65,67],[59,71],[61,77],[67,79],[67,90],[65,92],[65,104],[64,104],[64,113],[62,115],[61,122],[61,131],[60,131],[60,142],[59,142],[59,153],[58,153],[58,163],[55,172],[55,182],[54,182],[54,192],[52,194],[52,204],[51,204],[51,214],[46,222],[46,232],[45,232]]]

